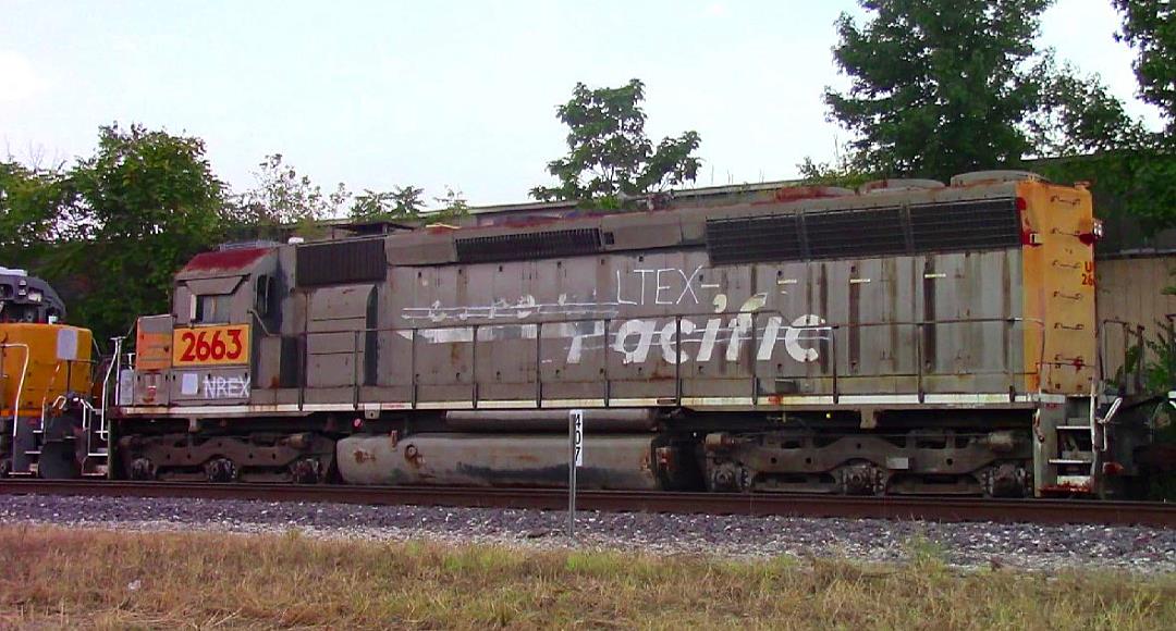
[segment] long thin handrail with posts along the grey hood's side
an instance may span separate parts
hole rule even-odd
[[[256,314],[253,314],[253,315],[256,316]],[[750,340],[750,351],[748,353],[749,360],[748,360],[748,365],[747,365],[748,372],[750,374],[750,384],[751,384],[751,397],[750,397],[750,401],[751,401],[751,405],[753,407],[759,405],[760,404],[760,385],[761,384],[760,384],[760,375],[759,375],[759,365],[757,364],[762,360],[760,360],[759,356],[757,356],[757,345],[756,345],[756,343],[757,343],[757,340],[759,340],[757,338],[759,331],[757,331],[756,323],[761,318],[763,318],[763,317],[771,317],[771,316],[779,316],[779,317],[781,317],[781,320],[784,320],[783,314],[781,311],[779,311],[779,310],[775,310],[775,309],[764,309],[764,310],[757,310],[757,311],[723,311],[723,313],[714,313],[714,311],[707,313],[707,311],[703,311],[703,313],[699,313],[699,314],[674,314],[674,315],[656,315],[656,314],[652,314],[652,315],[644,316],[648,320],[655,320],[655,321],[656,320],[668,320],[670,317],[674,318],[674,333],[675,333],[674,348],[675,348],[675,350],[674,350],[674,356],[673,356],[673,360],[674,360],[674,377],[673,377],[674,378],[674,391],[673,391],[671,401],[674,401],[677,405],[682,404],[683,395],[684,395],[684,391],[683,391],[684,390],[684,388],[683,388],[684,380],[683,380],[683,375],[682,375],[682,363],[683,363],[682,360],[683,360],[683,356],[682,356],[682,343],[680,343],[680,341],[681,341],[681,334],[682,334],[682,318],[688,318],[688,317],[691,317],[691,316],[695,316],[695,317],[697,317],[697,316],[707,316],[707,317],[731,316],[731,317],[746,317],[747,318],[747,323],[748,324],[747,324],[746,329],[743,329],[743,327],[740,327],[740,325],[731,325],[730,328],[731,328],[731,335],[735,337],[735,340],[740,340],[740,341],[741,340]],[[640,316],[635,317],[635,320],[641,320],[641,317]],[[470,362],[470,364],[469,364],[469,369],[470,369],[470,374],[469,374],[469,405],[472,408],[474,408],[474,409],[477,409],[482,404],[481,378],[480,378],[480,375],[479,375],[479,363],[480,362],[479,362],[479,349],[477,349],[477,347],[480,345],[479,342],[483,342],[485,341],[482,331],[486,330],[486,329],[494,329],[494,328],[533,328],[534,329],[534,336],[535,336],[535,364],[534,364],[534,367],[532,369],[532,374],[533,374],[533,378],[534,378],[534,383],[535,383],[535,405],[537,408],[542,408],[543,407],[543,401],[544,401],[544,397],[546,397],[544,387],[543,387],[544,385],[544,380],[543,380],[543,375],[542,375],[542,372],[543,372],[542,357],[543,357],[543,331],[544,331],[544,325],[549,325],[549,324],[573,324],[573,323],[583,323],[583,322],[597,323],[597,324],[600,324],[602,327],[601,334],[603,335],[603,347],[602,347],[603,351],[601,353],[601,365],[600,365],[601,372],[600,374],[601,374],[601,381],[603,382],[602,383],[602,388],[603,388],[603,405],[606,408],[608,408],[608,407],[612,405],[612,402],[613,402],[613,390],[612,390],[613,383],[612,382],[614,380],[612,378],[610,370],[609,370],[612,361],[609,360],[609,355],[607,353],[607,349],[610,348],[610,336],[612,336],[612,330],[610,329],[612,329],[612,324],[613,324],[614,321],[615,321],[614,317],[612,317],[612,316],[604,316],[604,317],[549,318],[549,320],[537,320],[537,321],[515,320],[515,321],[510,321],[510,322],[494,322],[494,321],[490,321],[490,322],[473,322],[473,323],[467,323],[467,322],[442,323],[442,322],[437,322],[435,324],[423,325],[423,327],[421,327],[421,325],[415,325],[415,327],[372,327],[372,328],[361,328],[361,329],[328,329],[328,330],[319,330],[319,331],[301,331],[300,334],[298,334],[298,336],[302,338],[302,344],[301,344],[302,351],[299,354],[300,355],[300,360],[301,360],[300,361],[301,365],[300,365],[299,394],[298,394],[299,409],[303,409],[305,405],[306,405],[307,375],[308,375],[308,368],[309,368],[308,361],[309,361],[309,355],[310,355],[310,353],[309,353],[309,338],[312,336],[322,336],[322,335],[332,335],[332,334],[334,334],[334,335],[350,334],[353,336],[352,349],[349,351],[349,355],[352,356],[352,380],[350,380],[350,382],[352,382],[350,383],[352,397],[350,398],[352,398],[353,407],[358,410],[358,409],[360,409],[360,403],[361,403],[361,400],[362,400],[361,387],[363,385],[363,380],[361,378],[361,372],[360,372],[360,353],[361,353],[361,348],[363,349],[363,353],[367,353],[368,351],[367,345],[370,343],[370,342],[365,343],[363,342],[363,337],[366,335],[370,335],[370,334],[385,334],[385,333],[407,334],[408,343],[409,343],[409,397],[408,397],[409,402],[408,403],[409,403],[409,407],[412,409],[416,409],[421,404],[421,398],[420,398],[420,385],[421,385],[421,383],[420,383],[420,375],[417,374],[417,368],[419,368],[419,365],[417,365],[419,364],[419,356],[417,356],[419,349],[416,348],[417,347],[417,338],[420,337],[420,331],[436,331],[436,330],[466,330],[466,331],[468,331],[468,335],[469,335],[468,340],[465,337],[465,335],[462,335],[461,338],[455,340],[454,343],[468,343],[469,347],[470,347],[469,348],[469,353],[470,353],[470,358],[469,358],[469,362]],[[784,320],[784,321],[787,322],[787,320]],[[943,320],[910,320],[910,321],[896,321],[896,322],[822,323],[822,324],[815,324],[815,325],[795,325],[795,328],[796,329],[801,329],[801,330],[807,330],[807,331],[823,331],[821,335],[818,335],[815,338],[824,341],[824,342],[827,342],[829,344],[828,357],[829,357],[829,378],[830,378],[830,389],[831,389],[831,392],[829,392],[829,394],[831,394],[834,403],[840,402],[840,400],[842,397],[842,384],[841,384],[841,382],[844,378],[844,376],[841,374],[841,367],[840,367],[841,362],[840,362],[840,357],[838,357],[840,353],[838,353],[838,349],[837,349],[837,347],[838,347],[838,343],[837,343],[837,337],[838,337],[837,331],[838,330],[842,330],[842,329],[844,329],[844,330],[869,329],[869,328],[895,328],[895,327],[906,327],[906,328],[914,329],[914,334],[913,334],[913,337],[914,337],[914,341],[913,341],[914,342],[914,349],[913,350],[914,350],[914,354],[915,354],[915,362],[914,362],[915,363],[915,370],[913,372],[897,372],[897,371],[896,372],[888,372],[886,376],[888,376],[888,377],[908,377],[908,378],[909,377],[915,377],[915,380],[916,380],[916,392],[917,392],[917,396],[918,396],[918,401],[923,402],[924,397],[926,397],[926,394],[927,394],[926,392],[926,374],[927,374],[927,368],[928,368],[926,365],[926,363],[927,363],[926,349],[923,348],[923,337],[924,337],[924,333],[923,331],[926,331],[926,328],[927,327],[965,325],[965,324],[984,324],[984,323],[1003,323],[1004,325],[1007,325],[1010,329],[1010,331],[1017,324],[1021,324],[1021,325],[1030,325],[1031,324],[1031,325],[1036,325],[1040,329],[1044,329],[1044,322],[1041,321],[1040,318],[1025,318],[1025,317],[955,317],[955,318],[943,318]],[[265,337],[274,337],[275,336],[273,333],[270,333],[263,325],[261,327],[261,329],[262,329],[262,334],[263,334]],[[744,335],[747,337],[742,337]],[[529,337],[529,335],[528,335],[528,337]],[[1022,369],[1018,369],[1013,363],[1013,361],[1011,361],[1013,357],[1016,356],[1015,344],[1016,344],[1017,337],[1015,335],[1009,335],[1009,336],[1007,336],[1007,338],[1008,338],[1008,343],[1005,345],[1007,363],[1005,363],[1005,368],[1004,369],[998,369],[998,370],[970,370],[970,371],[968,371],[968,374],[970,374],[970,375],[977,375],[977,376],[981,376],[981,375],[1007,375],[1008,378],[1009,378],[1009,398],[1010,398],[1010,402],[1011,402],[1011,401],[1016,400],[1016,392],[1018,390],[1018,388],[1017,388],[1017,380],[1018,380],[1018,377],[1025,377],[1028,375],[1040,374],[1041,367],[1043,367],[1045,364],[1055,364],[1055,363],[1060,364],[1060,363],[1064,363],[1064,362],[1047,362],[1044,360],[1044,335],[1042,335],[1041,340],[1040,340],[1041,345],[1038,348],[1037,361],[1035,362],[1035,365],[1037,365],[1037,370],[1022,370]],[[809,338],[809,340],[813,340],[813,338]],[[339,351],[334,351],[334,353],[329,353],[329,354],[338,354],[338,353]],[[345,350],[342,353],[347,353],[347,351]],[[367,360],[365,360],[365,361],[367,361]],[[365,374],[367,374],[366,369],[365,369]],[[459,380],[455,381],[454,384],[460,384],[461,381],[462,380],[460,380],[460,374],[459,374]],[[669,397],[659,397],[660,401],[663,400],[663,398],[669,398]]]

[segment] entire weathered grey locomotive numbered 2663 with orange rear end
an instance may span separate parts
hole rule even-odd
[[[1098,231],[1082,186],[981,172],[222,248],[139,320],[112,466],[555,486],[583,409],[587,488],[1120,492]]]

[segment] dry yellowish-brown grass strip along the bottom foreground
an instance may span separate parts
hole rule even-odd
[[[1176,577],[0,528],[0,627],[1176,629]]]

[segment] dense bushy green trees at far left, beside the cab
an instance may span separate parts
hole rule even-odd
[[[68,320],[99,341],[166,311],[175,271],[234,222],[193,136],[113,125],[100,128],[94,155],[68,168],[8,162],[0,173],[0,257],[58,287]]]

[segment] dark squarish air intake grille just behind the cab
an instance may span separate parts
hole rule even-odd
[[[295,276],[298,287],[377,282],[388,274],[383,240],[341,241],[299,246]]]

